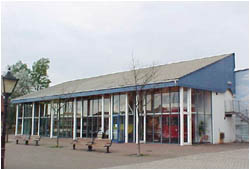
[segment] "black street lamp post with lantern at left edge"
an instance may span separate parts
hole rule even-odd
[[[5,159],[5,133],[6,133],[6,116],[8,109],[8,99],[13,93],[18,79],[16,79],[8,69],[5,76],[2,76],[2,95],[4,96],[4,111],[2,114],[2,136],[1,136],[1,169],[4,169]]]

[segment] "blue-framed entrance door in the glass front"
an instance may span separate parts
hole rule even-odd
[[[116,143],[122,143],[125,141],[125,116],[115,115],[113,116],[113,138],[112,141]]]

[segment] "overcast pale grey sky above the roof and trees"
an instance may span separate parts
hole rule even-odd
[[[51,85],[236,53],[248,68],[248,2],[4,2],[1,71],[49,58]]]

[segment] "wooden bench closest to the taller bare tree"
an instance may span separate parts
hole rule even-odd
[[[88,146],[88,151],[92,151],[93,147],[105,147],[107,149],[106,153],[110,153],[109,152],[109,148],[112,145],[112,140],[110,139],[103,139],[103,133],[102,132],[98,132],[97,134],[97,138],[94,138],[92,143],[87,144]]]

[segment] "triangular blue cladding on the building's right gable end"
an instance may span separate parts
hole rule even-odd
[[[179,79],[178,86],[195,89],[235,93],[234,54]],[[231,82],[231,83],[230,83]]]

